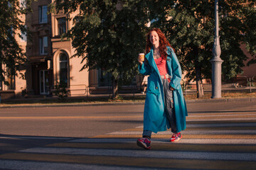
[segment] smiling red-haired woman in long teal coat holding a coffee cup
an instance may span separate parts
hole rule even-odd
[[[149,75],[144,106],[144,130],[137,145],[150,149],[151,132],[171,128],[171,142],[181,139],[186,129],[186,102],[181,89],[181,66],[173,48],[159,28],[146,38],[145,60],[139,61],[139,73]]]

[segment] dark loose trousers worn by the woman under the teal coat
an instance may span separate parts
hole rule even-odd
[[[171,132],[176,133],[176,120],[174,113],[174,91],[170,90],[170,83],[168,79],[161,79],[164,90],[164,113],[166,114],[171,125]],[[151,137],[150,130],[143,130],[143,137]]]

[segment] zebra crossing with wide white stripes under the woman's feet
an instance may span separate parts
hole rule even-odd
[[[151,150],[137,147],[141,134],[142,125],[89,138],[58,137],[44,147],[0,154],[0,169],[256,169],[253,108],[190,113],[180,142],[159,132]]]

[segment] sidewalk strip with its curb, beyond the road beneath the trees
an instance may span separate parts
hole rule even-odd
[[[222,91],[246,91],[250,92],[247,87],[242,88],[223,88]],[[252,88],[256,91],[256,87]],[[210,89],[205,89],[205,93],[211,93]],[[196,94],[196,90],[187,90],[183,92],[186,94]],[[63,107],[63,106],[103,106],[103,105],[143,105],[145,94],[119,94],[123,98],[130,98],[129,101],[107,101],[110,94],[90,94],[89,96],[70,96],[68,101],[61,103],[56,96],[29,96],[27,98],[13,98],[0,103],[0,108],[14,108],[14,107]],[[136,100],[133,101],[133,98]],[[97,100],[96,100],[97,99]],[[102,101],[101,101],[102,100]],[[256,103],[256,96],[247,98],[210,98],[210,99],[193,99],[186,100],[186,103],[205,103],[205,102],[234,102],[234,101],[248,101]]]

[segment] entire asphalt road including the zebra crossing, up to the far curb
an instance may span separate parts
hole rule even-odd
[[[143,110],[143,105],[0,108],[0,169],[256,167],[256,102],[188,103],[183,139],[170,145],[170,132],[153,135],[151,154],[136,146]]]

